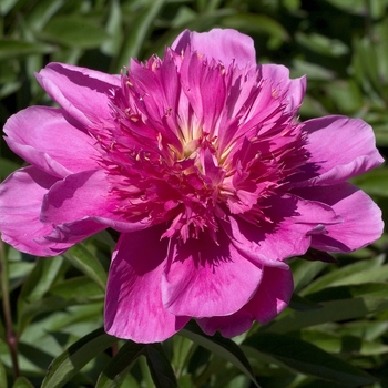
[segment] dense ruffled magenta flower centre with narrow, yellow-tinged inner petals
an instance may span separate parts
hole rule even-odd
[[[266,219],[261,201],[305,160],[299,126],[258,70],[213,62],[172,52],[133,62],[98,137],[116,212],[167,222],[163,237],[206,231],[216,242],[227,213]]]

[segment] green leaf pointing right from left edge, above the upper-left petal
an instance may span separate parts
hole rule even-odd
[[[43,43],[32,43],[14,39],[0,39],[0,61],[32,54],[48,54],[54,48]]]

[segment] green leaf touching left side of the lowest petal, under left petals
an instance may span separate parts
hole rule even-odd
[[[72,246],[63,256],[105,290],[106,272],[99,259],[81,243]]]

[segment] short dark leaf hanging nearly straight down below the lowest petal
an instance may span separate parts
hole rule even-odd
[[[144,348],[152,379],[157,388],[177,387],[174,370],[161,344],[150,344]]]

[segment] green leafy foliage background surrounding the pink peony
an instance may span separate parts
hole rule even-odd
[[[307,74],[302,120],[361,118],[387,155],[388,0],[1,0],[1,126],[51,104],[33,75],[51,61],[119,73],[131,57],[163,55],[183,29],[213,27],[249,34],[259,62]],[[23,162],[3,140],[0,151],[3,180]],[[387,167],[354,181],[387,218]],[[295,296],[273,324],[234,341],[192,325],[162,346],[99,330],[113,246],[101,233],[55,258],[1,247],[1,388],[238,388],[253,376],[263,388],[388,387],[386,235],[338,263],[292,259]]]

